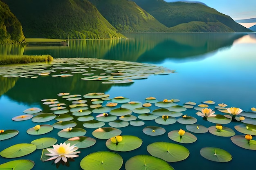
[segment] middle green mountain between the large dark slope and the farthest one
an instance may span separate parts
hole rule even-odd
[[[104,18],[119,32],[166,32],[167,27],[157,21],[135,2],[128,0],[90,0]]]

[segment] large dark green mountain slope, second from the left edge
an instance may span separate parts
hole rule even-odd
[[[26,38],[124,38],[88,0],[2,0]]]

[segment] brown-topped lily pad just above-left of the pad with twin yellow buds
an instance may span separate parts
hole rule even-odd
[[[121,130],[112,127],[98,128],[92,132],[92,135],[98,139],[110,139],[121,134]]]

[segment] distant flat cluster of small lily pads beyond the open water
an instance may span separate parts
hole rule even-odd
[[[0,67],[0,75],[3,77],[69,77],[79,73],[85,76],[82,80],[99,80],[103,84],[132,83],[133,79],[146,79],[149,75],[166,75],[173,72],[153,64],[97,58],[62,58],[54,59],[50,64]]]

